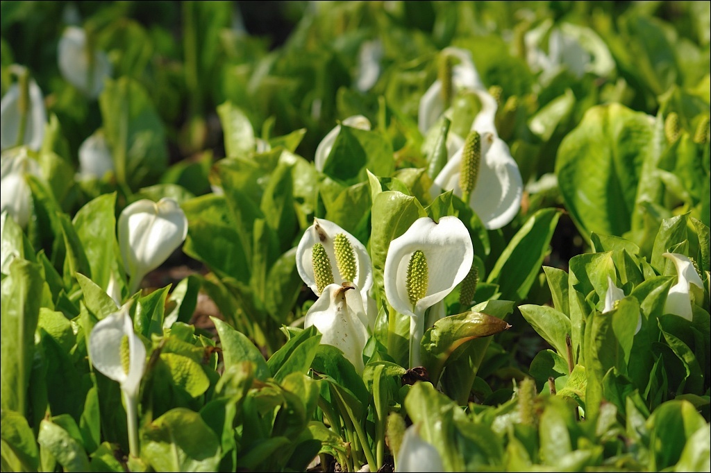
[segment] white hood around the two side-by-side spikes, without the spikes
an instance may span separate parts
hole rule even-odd
[[[304,236],[299,240],[299,245],[296,246],[296,271],[299,271],[301,281],[304,281],[306,286],[309,286],[309,288],[314,291],[314,294],[319,295],[316,288],[314,264],[311,262],[311,254],[313,253],[314,244],[320,243],[324,245],[328,259],[331,261],[333,282],[336,284],[346,282],[341,278],[341,273],[338,272],[336,253],[333,248],[333,241],[339,233],[348,238],[353,248],[353,254],[355,254],[355,281],[350,282],[358,287],[361,298],[368,300],[368,290],[373,287],[373,264],[370,262],[370,255],[365,249],[365,246],[363,246],[357,238],[330,220],[314,218],[314,223],[311,224],[311,227],[306,229]]]

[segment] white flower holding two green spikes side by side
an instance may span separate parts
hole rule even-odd
[[[326,258],[319,257],[324,254]],[[360,290],[360,297],[368,300],[368,290],[373,287],[373,265],[365,246],[326,219],[314,219],[301,237],[296,247],[296,270],[316,295],[330,283],[351,282]]]

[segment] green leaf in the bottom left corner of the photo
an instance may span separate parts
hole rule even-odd
[[[0,418],[3,464],[9,462],[8,466],[16,472],[36,471],[39,467],[39,452],[35,435],[25,416],[3,408]]]

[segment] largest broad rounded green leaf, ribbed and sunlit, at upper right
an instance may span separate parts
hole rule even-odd
[[[631,229],[643,150],[653,125],[620,104],[592,107],[558,148],[555,172],[582,234],[621,236]]]

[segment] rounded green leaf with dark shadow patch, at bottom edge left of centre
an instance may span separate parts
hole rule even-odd
[[[215,472],[220,440],[200,414],[174,408],[141,430],[141,457],[156,472]]]

